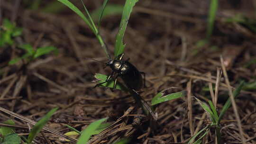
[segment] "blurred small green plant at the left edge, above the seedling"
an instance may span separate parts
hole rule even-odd
[[[22,34],[22,28],[16,27],[9,19],[3,19],[3,24],[0,27],[0,47],[13,45],[13,38]]]

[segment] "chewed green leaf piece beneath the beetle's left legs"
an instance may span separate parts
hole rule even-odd
[[[100,81],[98,81],[98,83],[101,83],[101,82],[106,81],[108,76],[107,76],[107,75],[104,75],[104,74],[96,73],[96,74],[94,75],[94,77],[95,77],[96,79],[100,80]],[[100,87],[113,88],[113,87],[114,87],[114,81],[113,81],[112,79],[110,79],[109,82],[106,82],[106,83],[101,84]],[[117,81],[117,87],[116,87],[116,89],[118,89],[118,90],[123,90],[123,91],[128,91],[127,88],[126,88],[124,85],[122,85],[121,83],[119,83],[118,81]]]

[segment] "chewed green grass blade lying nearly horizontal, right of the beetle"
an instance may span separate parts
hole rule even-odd
[[[166,89],[168,90],[168,89]],[[187,94],[187,91],[179,91],[179,92],[175,92],[172,94],[167,94],[165,95],[165,90],[159,92],[158,94],[155,95],[155,97],[151,100],[151,106],[154,106],[156,104],[165,102],[165,101],[169,101],[172,99],[177,99],[177,98],[181,98],[183,96],[185,96]]]

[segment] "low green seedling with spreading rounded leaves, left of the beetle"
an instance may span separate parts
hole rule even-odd
[[[37,57],[45,54],[49,54],[54,51],[55,54],[58,52],[57,48],[54,46],[38,47],[36,50],[29,44],[19,45],[18,48],[25,50],[27,53],[23,54],[21,57],[17,57],[9,61],[9,64],[15,64],[20,60],[25,60],[27,63],[35,60]]]

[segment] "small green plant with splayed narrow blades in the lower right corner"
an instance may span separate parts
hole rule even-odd
[[[233,91],[234,98],[236,98],[239,95],[239,93],[242,90],[243,86],[244,86],[244,82],[242,81],[238,85],[236,90]],[[210,131],[211,128],[215,129],[216,137],[217,137],[217,144],[220,144],[220,139],[221,139],[220,120],[222,119],[222,117],[225,115],[225,113],[227,112],[227,110],[231,106],[230,99],[228,99],[226,101],[226,103],[224,104],[223,108],[221,109],[219,115],[218,115],[218,112],[217,112],[216,108],[214,107],[214,105],[213,105],[211,100],[208,101],[210,107],[206,103],[202,102],[199,99],[197,99],[197,101],[199,102],[200,106],[210,115],[211,123],[208,126],[205,126],[204,128],[202,128],[194,136],[192,136],[192,138],[190,139],[188,144],[201,144],[200,143],[201,139],[204,137],[204,135],[206,135]],[[195,138],[198,137],[199,135],[201,135],[201,136],[195,142],[193,142],[195,140]]]

